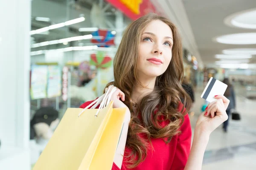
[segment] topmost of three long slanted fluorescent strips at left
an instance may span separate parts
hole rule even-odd
[[[79,17],[79,18],[76,18],[74,20],[66,21],[64,23],[58,23],[58,24],[55,24],[55,25],[52,25],[52,26],[40,28],[40,29],[37,29],[37,30],[32,30],[32,31],[30,31],[30,35],[39,34],[41,32],[49,31],[50,29],[56,29],[56,28],[61,28],[61,27],[64,27],[64,26],[69,26],[69,25],[72,25],[72,24],[80,23],[80,22],[83,22],[84,20],[85,20],[84,17]]]

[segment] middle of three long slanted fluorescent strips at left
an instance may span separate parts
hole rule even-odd
[[[32,44],[31,48],[37,48],[37,47],[42,47],[42,46],[52,45],[52,44],[60,44],[60,43],[63,43],[63,42],[87,40],[87,39],[90,39],[92,37],[93,37],[92,34],[89,34],[89,35],[84,35],[84,36],[64,38],[64,39],[60,39],[60,40],[52,40],[52,41],[39,42],[39,43],[36,43],[36,44]]]

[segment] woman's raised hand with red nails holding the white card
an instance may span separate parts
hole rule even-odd
[[[195,133],[206,134],[207,136],[212,133],[219,125],[227,120],[226,113],[227,106],[230,101],[223,95],[215,96],[217,99],[209,103],[207,108],[198,118],[195,126]]]

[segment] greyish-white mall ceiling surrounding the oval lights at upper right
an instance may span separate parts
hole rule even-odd
[[[183,0],[183,4],[204,64],[214,63],[218,60],[215,54],[222,54],[222,50],[227,48],[256,48],[256,44],[230,45],[212,40],[226,34],[256,33],[256,29],[230,27],[224,23],[231,14],[256,8],[256,0]],[[256,63],[256,55],[250,63]]]

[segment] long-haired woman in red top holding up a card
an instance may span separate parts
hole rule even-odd
[[[113,108],[128,108],[131,121],[124,159],[119,164],[115,157],[112,170],[200,170],[209,134],[227,119],[228,99],[216,96],[199,117],[190,151],[191,99],[181,86],[182,45],[176,26],[156,14],[135,20],[123,34],[113,67],[109,85],[118,88]]]

